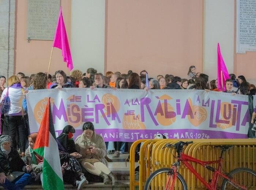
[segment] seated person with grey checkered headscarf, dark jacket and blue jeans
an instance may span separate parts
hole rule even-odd
[[[0,186],[8,190],[21,190],[31,180],[32,167],[26,165],[8,135],[0,136]]]

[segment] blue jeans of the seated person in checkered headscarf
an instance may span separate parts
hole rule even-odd
[[[21,190],[30,182],[30,180],[30,174],[23,174],[19,178],[15,179],[13,182],[10,182],[8,179],[5,179],[5,183],[0,183],[0,186],[3,186],[4,189],[8,190]]]

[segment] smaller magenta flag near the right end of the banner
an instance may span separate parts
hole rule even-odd
[[[227,71],[225,62],[221,55],[221,49],[219,48],[219,43],[218,43],[217,51],[218,51],[218,55],[217,55],[217,58],[218,58],[218,63],[217,63],[217,65],[218,65],[217,66],[218,86],[217,86],[217,88],[224,92],[226,90],[225,81],[227,79],[229,79],[230,77],[229,77],[229,72]],[[221,77],[221,73],[222,73],[222,77]]]

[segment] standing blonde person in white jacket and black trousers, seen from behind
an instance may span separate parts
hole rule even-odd
[[[10,98],[10,109],[4,114],[4,125],[3,125],[3,135],[9,135],[13,141],[13,147],[16,148],[17,143],[20,145],[20,155],[25,156],[25,145],[26,138],[29,135],[28,127],[26,127],[24,120],[24,111],[22,110],[22,86],[20,85],[20,80],[17,76],[13,75],[7,80],[8,88],[5,88],[0,102],[3,102],[5,96]],[[16,135],[19,135],[19,142],[16,142]]]

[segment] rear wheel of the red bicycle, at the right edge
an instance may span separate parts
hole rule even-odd
[[[237,184],[247,187],[248,190],[256,190],[256,172],[248,168],[236,168],[227,176]],[[224,179],[221,185],[222,190],[243,189],[236,187],[231,181]]]

